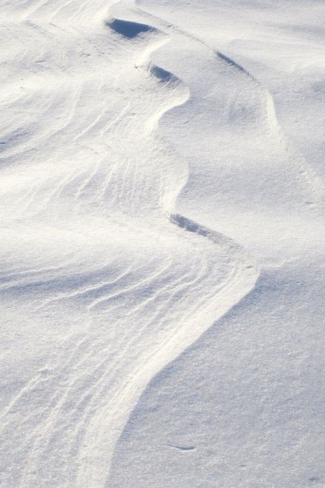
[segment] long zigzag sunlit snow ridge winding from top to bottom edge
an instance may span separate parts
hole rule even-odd
[[[128,40],[132,40],[137,36],[143,36],[144,33],[160,31],[150,25],[136,23],[132,21],[122,21],[116,17],[111,17],[106,22],[112,30],[115,30],[118,34],[121,34]],[[155,49],[158,49],[159,44],[154,45],[152,48],[146,50],[145,56],[142,58],[140,67],[145,68],[147,75],[154,76],[159,83],[165,83],[172,89],[182,86],[184,88],[184,82],[180,80],[176,75],[154,65],[149,60],[149,54]],[[146,59],[145,59],[146,58]],[[139,67],[137,67],[139,69]],[[155,135],[158,132],[158,122],[163,115],[172,108],[183,104],[189,99],[190,91],[187,88],[186,92],[182,93],[182,96],[176,97],[169,104],[161,108],[157,113],[152,115],[147,120],[145,132],[147,134]],[[160,136],[157,135],[161,139]],[[165,141],[164,141],[165,142]],[[184,310],[184,318],[178,325],[178,330],[159,344],[159,347],[152,351],[149,358],[141,364],[136,371],[132,371],[132,375],[128,381],[125,382],[120,388],[117,395],[117,402],[107,410],[104,408],[104,412],[101,413],[102,419],[97,419],[97,425],[101,425],[101,429],[97,427],[100,439],[97,440],[97,454],[94,454],[94,450],[86,455],[86,462],[82,463],[82,469],[78,475],[78,486],[82,486],[82,483],[86,480],[87,486],[91,488],[97,488],[103,483],[104,476],[108,476],[109,467],[102,467],[101,474],[98,472],[98,463],[101,454],[102,445],[105,446],[106,453],[112,452],[115,448],[115,443],[119,438],[125,421],[130,417],[130,413],[134,409],[134,406],[130,404],[130,398],[139,397],[152,377],[158,373],[161,369],[167,366],[169,362],[176,359],[180,353],[189,347],[195,340],[197,340],[203,332],[208,329],[215,321],[219,320],[231,307],[239,303],[243,297],[248,294],[252,288],[254,288],[256,280],[259,276],[259,271],[256,264],[253,262],[252,257],[248,255],[242,246],[226,237],[221,233],[212,231],[201,224],[194,222],[193,220],[182,216],[176,211],[176,199],[180,191],[186,185],[186,181],[189,177],[188,170],[186,177],[184,174],[180,176],[177,184],[173,182],[169,188],[169,191],[165,194],[162,200],[163,210],[167,214],[170,222],[176,224],[180,229],[186,231],[191,238],[191,234],[197,237],[202,237],[216,246],[216,249],[226,249],[228,260],[232,264],[232,272],[228,278],[223,281],[219,286],[210,292],[206,293],[206,299],[204,303],[198,303],[194,310],[191,310],[190,316],[187,311]],[[202,301],[201,301],[202,302]],[[108,439],[107,433],[103,429],[104,419],[109,425],[114,424],[115,430],[110,430],[110,439]],[[88,457],[89,456],[89,457]],[[98,457],[97,457],[98,456]],[[89,471],[87,466],[92,465]],[[107,485],[107,484],[106,484]]]

